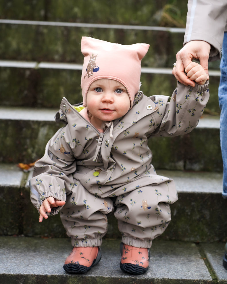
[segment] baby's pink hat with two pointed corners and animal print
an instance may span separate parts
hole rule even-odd
[[[90,85],[98,79],[112,79],[127,89],[131,107],[136,93],[140,89],[141,60],[149,49],[149,44],[136,43],[121,45],[101,41],[91,37],[82,37],[81,52],[84,65],[81,77],[83,106]]]

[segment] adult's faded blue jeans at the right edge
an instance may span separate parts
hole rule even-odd
[[[224,33],[222,45],[222,59],[220,63],[221,78],[218,88],[220,115],[220,142],[223,160],[223,193],[227,198],[227,32]]]

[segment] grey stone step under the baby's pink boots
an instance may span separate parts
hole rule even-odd
[[[224,284],[224,243],[195,244],[153,241],[149,269],[129,275],[120,269],[120,240],[105,239],[102,258],[84,275],[67,274],[63,265],[71,252],[68,239],[0,237],[0,283],[136,283],[136,284]]]

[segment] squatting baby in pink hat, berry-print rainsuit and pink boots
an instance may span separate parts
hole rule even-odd
[[[145,273],[152,240],[171,220],[169,204],[178,199],[174,181],[156,174],[147,141],[192,131],[209,83],[192,62],[185,72],[198,83],[194,88],[178,83],[171,98],[145,96],[140,75],[148,48],[82,37],[83,104],[62,99],[55,119],[66,125],[35,163],[31,201],[39,222],[60,212],[73,246],[64,264],[68,273],[86,273],[99,262],[111,212],[122,233],[120,268]]]

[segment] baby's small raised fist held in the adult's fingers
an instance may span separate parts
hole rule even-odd
[[[188,64],[185,72],[190,80],[197,82],[199,85],[204,85],[208,78],[203,67],[196,62]]]

